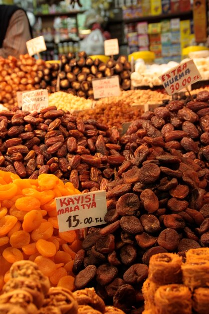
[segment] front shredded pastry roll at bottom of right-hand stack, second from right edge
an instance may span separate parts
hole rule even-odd
[[[158,314],[191,314],[191,292],[183,284],[167,284],[154,294]]]

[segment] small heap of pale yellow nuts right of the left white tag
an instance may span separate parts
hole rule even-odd
[[[74,96],[66,92],[55,92],[49,96],[49,106],[65,111],[79,111],[92,107],[92,100]]]

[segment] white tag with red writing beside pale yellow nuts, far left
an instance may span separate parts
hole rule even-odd
[[[22,94],[22,110],[37,111],[49,107],[49,96],[47,89],[37,89]]]

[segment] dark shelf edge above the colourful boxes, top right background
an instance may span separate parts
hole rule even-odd
[[[192,10],[185,11],[185,12],[174,12],[174,13],[169,13],[169,14],[160,14],[160,15],[152,15],[152,16],[144,16],[144,17],[139,17],[135,19],[110,19],[109,23],[110,24],[116,24],[116,23],[124,23],[124,24],[130,24],[130,23],[137,23],[137,22],[157,22],[160,20],[166,20],[166,19],[175,19],[175,18],[180,18],[180,19],[188,19],[192,18]]]

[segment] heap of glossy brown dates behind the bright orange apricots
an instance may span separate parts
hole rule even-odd
[[[117,143],[120,134],[93,119],[48,107],[41,113],[17,107],[0,113],[0,169],[21,178],[54,174],[75,188],[106,190],[108,180],[125,157]]]

